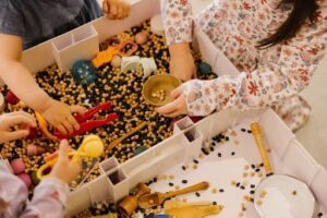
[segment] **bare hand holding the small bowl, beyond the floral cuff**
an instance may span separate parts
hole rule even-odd
[[[156,111],[169,118],[178,117],[180,114],[186,114],[187,106],[182,94],[183,88],[181,86],[175,88],[171,92],[171,97],[174,98],[174,100],[167,104],[166,106],[156,108]]]

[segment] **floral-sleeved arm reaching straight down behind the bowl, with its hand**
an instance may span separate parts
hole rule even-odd
[[[190,50],[192,41],[192,8],[187,0],[161,0],[166,40],[170,53],[170,73],[182,81],[196,75]]]

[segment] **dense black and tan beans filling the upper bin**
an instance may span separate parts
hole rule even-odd
[[[164,74],[169,72],[169,53],[165,45],[165,37],[152,34],[149,32],[149,21],[140,26],[132,27],[117,37],[121,41],[134,40],[134,36],[141,32],[148,32],[148,40],[138,45],[138,49],[133,56],[144,58],[155,58],[158,70],[153,73]],[[100,50],[108,48],[108,41],[100,44]],[[201,62],[199,53],[194,52],[196,62]],[[214,78],[214,73],[199,74],[201,78]],[[94,107],[101,102],[111,101],[110,111],[100,112],[105,116],[109,112],[118,113],[118,119],[108,125],[95,129],[87,134],[96,134],[101,137],[105,145],[109,145],[114,140],[130,132],[133,128],[146,121],[146,126],[136,134],[125,138],[112,149],[106,149],[105,155],[99,159],[85,158],[83,162],[83,173],[74,181],[71,186],[74,189],[82,181],[90,181],[97,177],[97,164],[108,157],[116,157],[120,164],[138,155],[147,148],[172,135],[172,119],[164,118],[155,112],[154,107],[146,104],[142,97],[143,71],[122,72],[120,68],[112,68],[110,63],[105,64],[97,71],[97,78],[90,85],[77,85],[70,72],[61,72],[57,64],[50,65],[36,74],[36,81],[52,98],[61,100],[68,105],[82,105],[86,108]],[[7,87],[1,89],[5,96],[9,90]],[[29,113],[34,111],[19,104],[17,106],[7,105],[4,112],[25,110]],[[83,141],[83,135],[69,140],[73,148],[77,148]],[[38,153],[28,153],[28,145],[37,145]],[[34,140],[19,140],[15,142],[0,145],[1,156],[9,161],[20,158],[25,164],[25,172],[32,177],[34,185],[38,183],[35,178],[37,169],[44,165],[44,158],[58,149],[58,142],[50,141],[40,131]],[[90,172],[90,173],[89,173]],[[86,177],[87,175],[87,177]],[[86,177],[86,178],[85,178]]]

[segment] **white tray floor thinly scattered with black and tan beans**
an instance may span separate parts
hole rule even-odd
[[[254,195],[256,187],[267,175],[250,124],[245,122],[215,135],[207,142],[208,147],[202,148],[198,156],[158,174],[146,184],[152,192],[165,193],[207,181],[209,182],[207,190],[181,195],[172,199],[182,203],[211,202],[213,205],[222,206],[222,210],[218,215],[208,217],[258,218],[254,207]],[[270,148],[267,152],[271,156]],[[272,165],[275,164],[277,162],[272,160]],[[135,192],[132,191],[131,194]],[[259,204],[265,204],[265,195],[267,194],[261,193]],[[290,195],[294,195],[294,193],[290,192]],[[164,211],[162,204],[149,209],[137,208],[131,217],[152,218],[165,214]],[[109,214],[112,217],[123,217],[116,206],[109,203],[98,203],[76,217],[109,216]],[[324,217],[319,207],[312,218],[318,217]]]

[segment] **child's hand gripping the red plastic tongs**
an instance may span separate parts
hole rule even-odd
[[[68,106],[63,102],[51,99],[47,108],[41,111],[44,118],[59,130],[62,134],[72,133],[80,129],[80,124],[72,113],[83,114],[85,108],[82,106]]]

